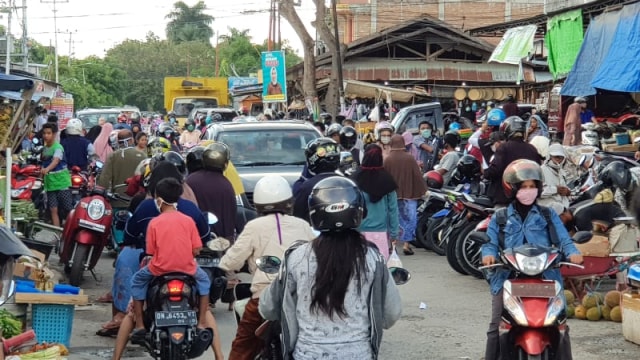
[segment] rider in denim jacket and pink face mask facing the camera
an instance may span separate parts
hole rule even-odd
[[[571,240],[569,233],[563,226],[558,215],[546,208],[536,205],[536,199],[540,198],[543,189],[543,175],[540,165],[531,160],[517,160],[510,163],[502,176],[502,185],[505,197],[509,200],[507,207],[507,223],[504,227],[504,247],[501,247],[500,231],[495,216],[491,217],[487,235],[491,241],[482,246],[482,264],[492,265],[499,258],[500,251],[514,248],[525,243],[541,245],[545,247],[556,246],[561,253],[572,263],[581,264],[582,255]],[[550,217],[552,224],[545,220],[545,212]],[[559,244],[552,244],[549,231],[555,231]],[[500,326],[503,299],[502,286],[513,274],[510,270],[496,268],[487,274],[491,288],[491,323],[487,331],[487,346],[485,360],[501,359],[500,339],[498,328]],[[543,274],[545,279],[556,280],[562,284],[560,270],[550,269]],[[569,341],[569,329],[565,333],[564,341],[558,345],[560,354],[558,359],[571,360],[571,343]]]

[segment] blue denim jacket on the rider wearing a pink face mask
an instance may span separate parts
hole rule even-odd
[[[565,257],[580,254],[580,251],[576,248],[573,240],[571,240],[569,233],[564,228],[560,217],[555,211],[551,211],[550,214],[551,221],[553,222],[556,233],[558,234],[558,240],[560,242],[558,247],[560,252],[564,254]],[[523,222],[522,218],[513,207],[513,204],[510,204],[507,208],[507,223],[504,226],[504,245],[507,249],[518,247],[525,243],[524,240],[526,238],[527,243],[529,244],[551,247],[552,244],[549,239],[549,230],[547,226],[548,224],[544,219],[544,215],[542,215],[540,208],[537,205],[534,205],[531,210],[529,210],[529,214],[527,214],[527,217]],[[482,257],[493,255],[496,259],[499,258],[498,229],[498,222],[494,216],[491,218],[489,228],[487,229],[487,235],[489,235],[491,242],[482,245]],[[502,285],[510,275],[510,270],[506,268],[496,268],[495,272],[487,276],[487,280],[491,287],[491,293],[493,295],[500,292]],[[556,280],[562,285],[562,275],[560,275],[559,269],[548,269],[544,272],[543,277],[548,280]]]

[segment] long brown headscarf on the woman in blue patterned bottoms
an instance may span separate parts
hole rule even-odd
[[[384,168],[398,185],[398,199],[415,200],[427,191],[427,184],[422,179],[420,168],[413,156],[405,151],[404,138],[395,134],[389,144],[391,151],[384,159]]]

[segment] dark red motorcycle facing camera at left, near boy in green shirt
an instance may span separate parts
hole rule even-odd
[[[67,215],[62,232],[60,262],[64,264],[69,283],[73,286],[80,285],[85,270],[91,271],[96,278],[93,269],[111,235],[113,210],[109,200],[128,201],[101,187],[94,187]]]

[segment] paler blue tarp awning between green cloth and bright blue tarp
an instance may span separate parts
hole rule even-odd
[[[609,53],[619,20],[620,10],[603,13],[591,21],[576,62],[567,75],[567,80],[562,86],[560,94],[586,96],[596,93],[591,82]],[[614,50],[617,50],[615,53],[620,53],[629,49],[625,45],[622,48],[614,48]],[[616,81],[619,80],[616,79]]]

